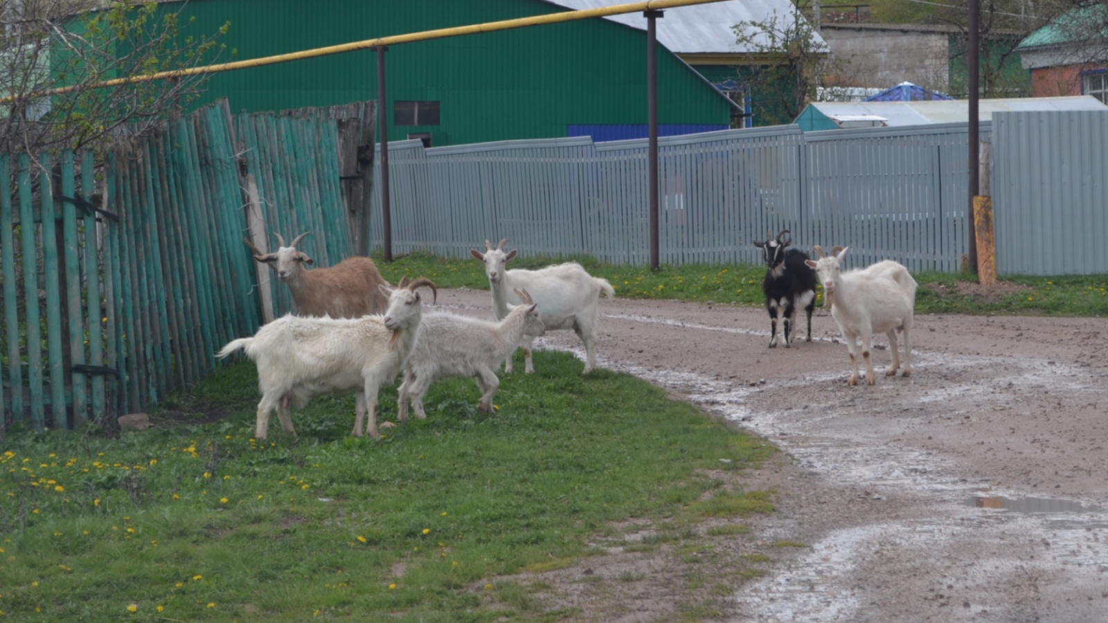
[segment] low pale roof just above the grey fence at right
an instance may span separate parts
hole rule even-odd
[[[970,118],[966,100],[931,100],[919,102],[812,102],[823,115],[834,119],[844,115],[876,115],[889,126],[929,125],[932,123],[965,122]],[[807,110],[807,109],[806,109]],[[981,121],[991,121],[994,112],[1003,111],[1108,111],[1091,95],[1067,98],[1020,98],[1007,100],[979,100]],[[803,113],[801,113],[803,115]]]

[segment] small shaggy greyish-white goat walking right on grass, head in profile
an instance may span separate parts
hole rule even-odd
[[[404,381],[400,384],[401,421],[408,419],[411,399],[416,417],[423,419],[423,395],[432,382],[448,377],[473,377],[481,388],[478,411],[491,413],[492,398],[500,387],[496,368],[510,357],[524,338],[545,333],[537,306],[527,293],[516,290],[524,300],[503,320],[491,323],[448,313],[423,316],[419,339],[404,364]]]

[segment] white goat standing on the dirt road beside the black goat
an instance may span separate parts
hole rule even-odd
[[[903,376],[911,375],[911,333],[916,283],[907,268],[886,259],[860,270],[842,273],[839,267],[847,255],[847,248],[835,247],[830,256],[823,255],[823,249],[818,245],[814,249],[819,259],[815,262],[809,259],[806,264],[814,268],[819,275],[827,304],[831,305],[831,316],[839,324],[839,330],[847,341],[851,368],[847,385],[858,385],[859,337],[862,338],[862,358],[865,360],[865,382],[866,385],[876,382],[873,361],[870,358],[874,333],[884,333],[889,336],[889,349],[892,351],[893,360],[885,375],[893,376],[900,368],[896,331],[903,331]]]

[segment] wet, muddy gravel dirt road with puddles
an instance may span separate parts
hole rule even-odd
[[[440,303],[481,315],[484,290]],[[665,386],[793,458],[755,474],[807,543],[732,621],[1108,621],[1108,319],[917,316],[912,376],[848,387],[847,347],[767,348],[762,309],[602,300],[601,367]],[[572,331],[543,338],[583,356]],[[665,620],[645,609],[625,621]]]

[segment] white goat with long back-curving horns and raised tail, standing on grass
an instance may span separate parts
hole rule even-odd
[[[383,316],[361,318],[302,318],[283,316],[258,329],[254,337],[232,340],[216,354],[220,359],[242,348],[258,366],[258,402],[255,437],[265,439],[269,412],[277,410],[281,428],[289,435],[289,404],[302,407],[320,394],[357,391],[357,417],[351,435],[378,437],[377,392],[392,382],[411,353],[422,316],[416,288],[434,284],[425,277],[396,288],[378,286],[389,297]]]

